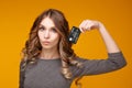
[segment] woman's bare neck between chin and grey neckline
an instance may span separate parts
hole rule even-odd
[[[56,59],[56,58],[59,58],[59,54],[58,54],[57,48],[56,50],[45,50],[45,48],[43,48],[41,54],[40,54],[40,57],[42,59]]]

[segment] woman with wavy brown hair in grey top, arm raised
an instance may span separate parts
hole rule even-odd
[[[108,59],[77,57],[67,40],[67,20],[61,11],[50,9],[36,18],[25,43],[20,64],[20,88],[70,88],[77,77],[125,66],[123,54],[101,22],[84,20],[79,29],[81,32],[98,29],[107,46]]]

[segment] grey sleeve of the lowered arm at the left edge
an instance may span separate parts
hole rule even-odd
[[[24,82],[24,72],[22,70],[23,63],[24,63],[24,62],[21,62],[21,63],[20,63],[19,88],[24,88],[24,87],[23,87],[23,82]]]

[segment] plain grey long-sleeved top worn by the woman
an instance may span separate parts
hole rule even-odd
[[[24,76],[20,72],[19,88],[70,88],[76,77],[103,74],[120,69],[127,65],[121,52],[108,54],[107,59],[85,59],[77,57],[77,61],[82,63],[82,68],[70,66],[73,77],[72,79],[66,79],[61,73],[62,62],[59,58],[38,58],[35,65],[26,67]]]

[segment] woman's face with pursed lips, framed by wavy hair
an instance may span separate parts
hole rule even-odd
[[[59,34],[57,33],[57,28],[55,26],[52,19],[48,16],[43,19],[38,26],[38,38],[42,47],[44,50],[57,48]]]

